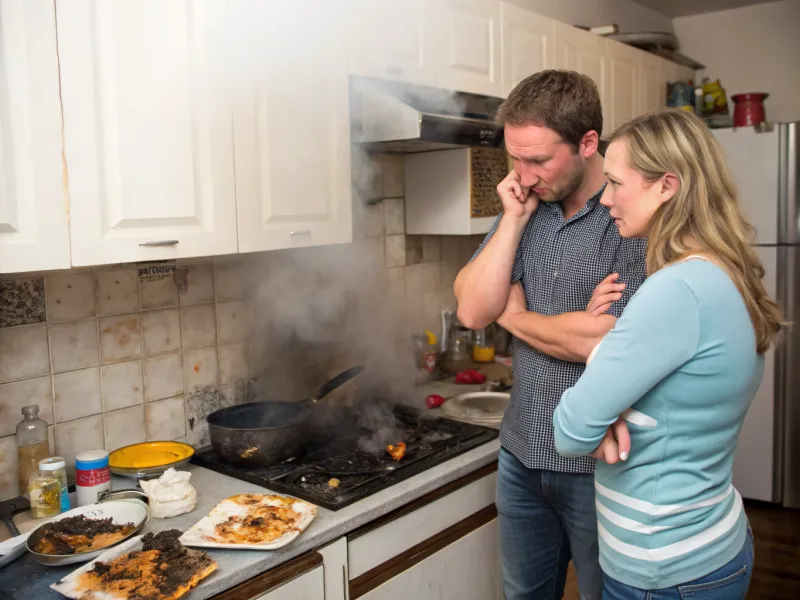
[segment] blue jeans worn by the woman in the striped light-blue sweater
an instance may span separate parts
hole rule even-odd
[[[753,532],[739,554],[724,567],[699,579],[660,590],[640,590],[605,576],[603,600],[744,600],[753,576]]]

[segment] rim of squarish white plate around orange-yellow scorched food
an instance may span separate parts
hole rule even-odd
[[[247,505],[234,502],[231,498],[225,498],[222,502],[217,504],[214,509],[195,523],[186,533],[180,537],[180,541],[184,546],[194,546],[197,548],[229,548],[234,550],[275,550],[281,548],[294,540],[300,535],[314,520],[317,515],[317,507],[303,500],[291,498],[289,496],[278,496],[276,494],[242,494],[242,496],[255,496],[260,499],[259,505],[267,506],[280,506],[281,501],[291,501],[292,510],[300,513],[300,522],[297,524],[293,531],[285,533],[271,542],[264,542],[263,544],[235,544],[229,542],[215,542],[207,539],[209,536],[214,535],[214,528],[227,521],[230,517],[238,516],[244,517],[248,514]]]

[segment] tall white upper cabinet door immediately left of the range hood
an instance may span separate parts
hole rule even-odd
[[[352,241],[348,51],[334,3],[232,3],[239,250]],[[302,34],[299,34],[302,32]]]

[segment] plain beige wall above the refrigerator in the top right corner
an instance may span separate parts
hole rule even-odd
[[[782,0],[674,20],[681,52],[706,65],[728,98],[767,92],[767,118],[800,120],[800,0]],[[731,101],[731,111],[733,110]]]

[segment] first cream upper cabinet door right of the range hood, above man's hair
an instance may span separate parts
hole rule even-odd
[[[553,67],[555,21],[503,2],[500,7],[502,97],[534,73]]]

